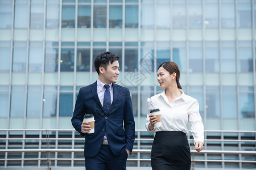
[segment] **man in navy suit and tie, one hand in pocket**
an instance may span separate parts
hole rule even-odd
[[[126,169],[127,157],[133,150],[135,123],[130,92],[115,84],[119,75],[118,59],[110,52],[99,54],[94,61],[97,81],[82,87],[77,95],[71,121],[85,136],[86,170]],[[88,133],[89,123],[83,121],[85,114],[94,115],[93,134]]]

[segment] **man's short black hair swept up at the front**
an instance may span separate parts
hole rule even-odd
[[[104,67],[105,70],[107,70],[107,67],[110,63],[113,63],[114,61],[118,60],[120,57],[111,53],[111,52],[104,52],[101,54],[98,54],[98,56],[95,58],[94,66],[98,74],[100,74],[100,67]]]

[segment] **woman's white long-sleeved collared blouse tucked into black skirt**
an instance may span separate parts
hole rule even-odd
[[[184,94],[183,90],[179,89],[182,93],[180,97],[177,97],[171,103],[168,101],[165,90],[150,98],[148,104],[146,129],[148,130],[148,124],[151,109],[160,109],[162,126],[155,128],[151,131],[183,131],[188,134],[188,122],[191,122],[191,132],[194,141],[200,141],[204,143],[204,125],[202,118],[199,114],[199,103],[191,96]]]

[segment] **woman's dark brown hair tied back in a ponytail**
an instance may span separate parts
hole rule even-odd
[[[177,87],[182,89],[182,87],[180,86],[180,69],[179,69],[179,66],[177,66],[177,64],[175,62],[167,61],[167,62],[163,62],[162,64],[160,64],[160,66],[158,67],[158,70],[159,70],[160,67],[163,67],[164,69],[166,69],[170,74],[176,73]]]

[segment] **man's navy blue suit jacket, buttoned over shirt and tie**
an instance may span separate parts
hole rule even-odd
[[[114,155],[124,148],[133,150],[135,123],[130,92],[127,88],[113,83],[113,102],[107,113],[97,94],[97,81],[80,88],[73,112],[72,125],[85,136],[84,156],[95,156],[100,151],[104,135],[108,137],[109,147]],[[94,115],[94,133],[81,132],[84,114]]]

